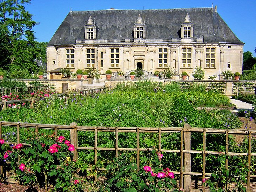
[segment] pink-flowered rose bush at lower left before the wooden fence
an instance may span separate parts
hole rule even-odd
[[[13,146],[0,139],[0,145],[5,145],[0,157],[3,162],[11,161],[21,182],[33,187],[45,186],[46,191],[50,185],[55,191],[82,191],[81,181],[74,177],[78,170],[78,164],[72,160],[74,145],[54,133],[45,135],[35,131],[28,134],[26,143]]]

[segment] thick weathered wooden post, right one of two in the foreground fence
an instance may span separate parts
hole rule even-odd
[[[184,129],[191,129],[188,123],[184,124]],[[190,150],[191,132],[184,131],[184,150]],[[191,154],[184,153],[184,172],[191,172]],[[184,192],[191,191],[191,176],[184,175]]]

